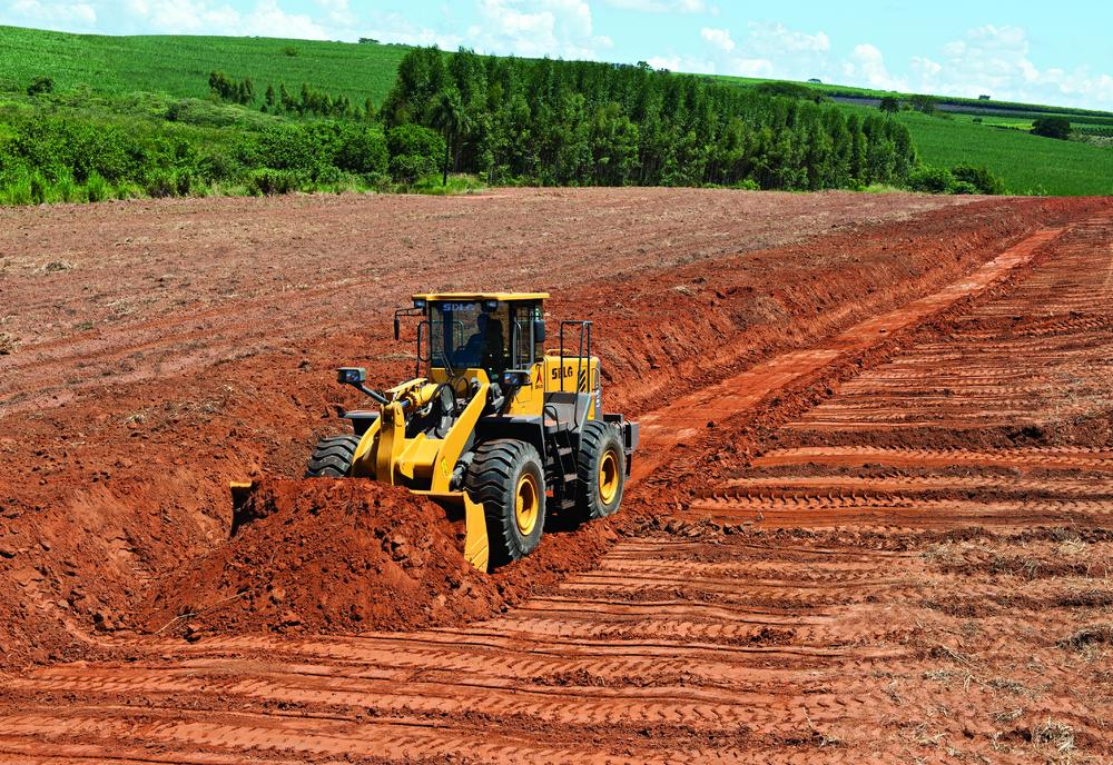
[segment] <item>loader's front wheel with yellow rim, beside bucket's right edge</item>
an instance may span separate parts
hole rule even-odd
[[[464,488],[483,505],[493,566],[536,549],[545,525],[545,471],[532,445],[512,438],[481,444]]]

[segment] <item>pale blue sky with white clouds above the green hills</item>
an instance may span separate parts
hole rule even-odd
[[[1110,2],[0,0],[0,23],[109,34],[373,37],[1113,109]]]

